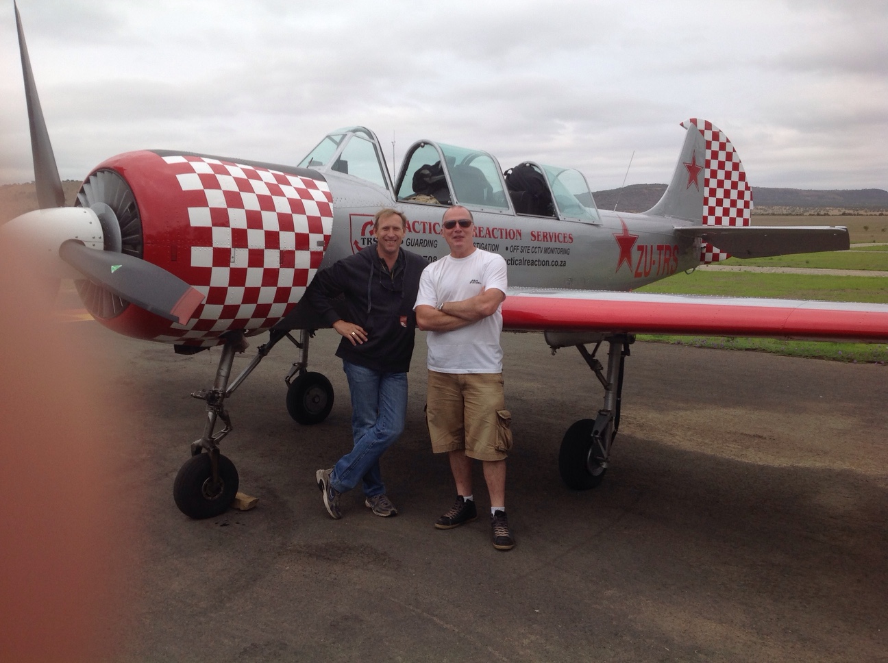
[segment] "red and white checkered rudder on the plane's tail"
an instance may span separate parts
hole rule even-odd
[[[749,225],[752,213],[752,189],[746,181],[746,171],[740,155],[722,130],[712,122],[691,118],[682,122],[686,130],[692,127],[702,134],[703,162],[703,225]],[[700,249],[700,261],[717,263],[730,257],[710,243]]]

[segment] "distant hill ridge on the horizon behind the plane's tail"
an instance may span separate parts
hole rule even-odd
[[[629,185],[593,193],[599,209],[643,212],[654,207],[666,185]],[[886,211],[884,189],[783,189],[753,186],[754,214],[841,214],[842,211]]]

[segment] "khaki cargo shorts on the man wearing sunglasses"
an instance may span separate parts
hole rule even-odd
[[[425,408],[435,454],[465,449],[469,458],[502,461],[511,449],[502,373],[429,371]]]

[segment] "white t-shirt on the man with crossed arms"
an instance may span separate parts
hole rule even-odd
[[[464,258],[442,257],[423,270],[419,278],[416,306],[434,308],[444,302],[459,302],[479,295],[481,289],[497,288],[505,294],[505,260],[496,253],[475,249]],[[439,373],[502,373],[502,304],[493,315],[464,328],[447,332],[429,332],[429,370]]]

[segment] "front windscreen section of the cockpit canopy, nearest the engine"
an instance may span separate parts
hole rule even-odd
[[[320,172],[332,170],[392,191],[379,139],[366,127],[331,131],[299,162],[299,167]]]

